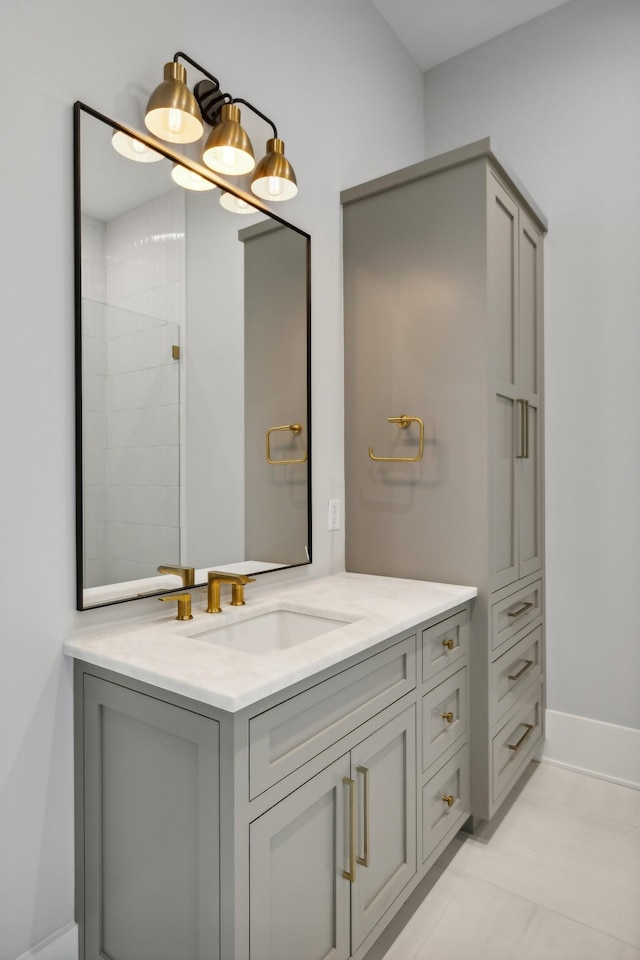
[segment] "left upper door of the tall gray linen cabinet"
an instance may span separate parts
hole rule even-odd
[[[487,306],[492,343],[491,589],[518,579],[516,414],[518,208],[487,174]]]

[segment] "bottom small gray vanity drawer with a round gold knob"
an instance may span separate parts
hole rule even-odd
[[[422,862],[469,815],[469,747],[464,746],[422,788]]]

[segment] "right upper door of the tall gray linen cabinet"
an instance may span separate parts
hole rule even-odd
[[[518,571],[542,567],[542,237],[521,210],[518,289]]]

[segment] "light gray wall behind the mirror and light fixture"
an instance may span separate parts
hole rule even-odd
[[[305,575],[344,563],[342,534],[325,523],[343,476],[338,194],[420,159],[424,127],[422,75],[365,0],[3,0],[0,35],[11,90],[0,156],[0,960],[13,960],[73,916],[63,640],[158,607],[74,612],[71,104],[139,124],[182,49],[276,120],[301,186],[286,216],[313,236],[317,519]],[[392,113],[399,135],[381,146]],[[328,138],[340,144],[330,155]]]

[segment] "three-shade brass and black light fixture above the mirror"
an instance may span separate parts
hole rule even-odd
[[[185,60],[206,78],[196,83],[193,93],[187,87],[186,67],[178,62],[179,59]],[[257,167],[251,140],[240,124],[239,104],[248,107],[273,131],[272,137],[267,140],[266,154]],[[202,137],[205,123],[212,127],[202,153],[202,162],[207,167],[223,176],[232,177],[249,174],[255,168],[251,190],[267,202],[289,200],[296,195],[296,175],[284,155],[284,142],[278,137],[273,121],[248,100],[222,92],[220,81],[213,74],[179,51],[170,63],[165,64],[164,80],[149,98],[145,124],[160,140],[193,143]],[[176,182],[188,189],[206,189],[189,186],[177,174],[173,176]],[[232,200],[233,203],[223,202],[221,198],[220,202],[226,209],[245,212],[244,201],[238,202],[235,197]]]

